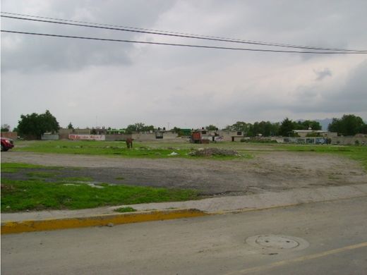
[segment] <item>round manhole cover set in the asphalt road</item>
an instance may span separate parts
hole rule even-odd
[[[302,250],[308,247],[308,242],[301,238],[279,235],[257,235],[246,239],[246,243],[254,247],[271,249]]]

